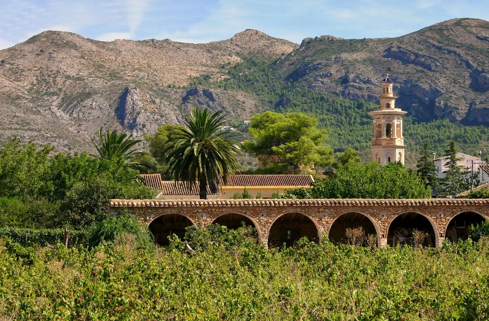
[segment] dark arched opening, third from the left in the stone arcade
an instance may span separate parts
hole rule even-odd
[[[307,236],[311,241],[321,240],[321,231],[317,222],[308,214],[300,211],[289,211],[278,216],[267,230],[268,245],[292,246],[301,237]]]

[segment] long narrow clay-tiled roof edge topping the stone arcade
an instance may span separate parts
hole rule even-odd
[[[489,199],[111,200],[112,207],[181,206],[488,206]]]

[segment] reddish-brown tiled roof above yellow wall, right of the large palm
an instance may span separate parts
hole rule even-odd
[[[231,175],[225,186],[310,186],[311,175]]]

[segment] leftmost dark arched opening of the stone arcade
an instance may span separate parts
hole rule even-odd
[[[168,245],[168,236],[177,234],[180,239],[185,236],[185,228],[196,226],[187,215],[166,213],[155,217],[148,223],[148,229],[155,235],[155,243],[160,246]]]

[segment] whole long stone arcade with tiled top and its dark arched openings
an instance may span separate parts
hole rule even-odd
[[[361,226],[377,235],[380,247],[392,245],[400,227],[422,230],[428,235],[424,246],[441,247],[448,234],[467,237],[471,224],[487,220],[489,199],[110,201],[111,214],[124,210],[146,223],[160,244],[170,233],[183,236],[185,227],[197,223],[236,228],[244,221],[257,228],[265,246],[291,245],[303,236],[320,241],[322,234],[344,242],[346,228]]]

